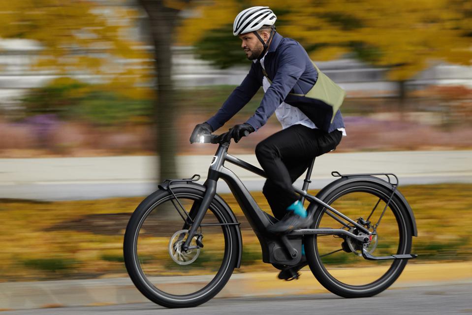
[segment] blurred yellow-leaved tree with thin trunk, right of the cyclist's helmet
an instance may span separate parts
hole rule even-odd
[[[321,44],[311,51],[315,60],[352,52],[364,62],[388,67],[389,79],[399,83],[403,112],[406,82],[419,71],[444,61],[471,64],[471,38],[463,29],[471,16],[462,12],[462,6],[470,4],[466,0],[329,1],[293,7],[285,32],[309,47]]]

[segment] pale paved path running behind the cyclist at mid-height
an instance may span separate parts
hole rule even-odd
[[[253,155],[238,155],[256,166]],[[205,180],[211,156],[179,156],[180,177],[200,174]],[[393,172],[400,184],[472,183],[472,151],[404,151],[330,153],[316,158],[311,188],[324,187],[343,174]],[[264,180],[228,163],[250,190]],[[96,199],[142,196],[156,189],[157,158],[4,158],[0,159],[0,198]],[[297,182],[301,185],[301,181]],[[229,192],[219,184],[219,192]]]

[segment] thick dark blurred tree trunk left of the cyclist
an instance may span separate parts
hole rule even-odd
[[[176,178],[175,156],[177,130],[175,128],[176,104],[173,101],[172,38],[177,19],[176,9],[165,7],[160,0],[139,0],[146,10],[151,26],[156,68],[156,91],[154,117],[156,120],[157,154],[159,156],[158,182]]]

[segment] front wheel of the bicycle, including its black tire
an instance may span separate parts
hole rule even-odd
[[[204,196],[203,191],[192,187],[172,190],[187,212],[190,204],[201,201]],[[237,227],[200,227],[204,247],[194,262],[179,265],[173,260],[165,240],[169,242],[174,232],[189,229],[189,225],[178,215],[171,220],[168,215],[162,218],[162,213],[155,215],[157,208],[166,210],[166,214],[169,209],[174,209],[177,214],[171,205],[172,200],[175,203],[169,191],[158,190],[143,200],[132,214],[123,247],[126,270],[139,291],[154,303],[168,308],[194,307],[213,298],[229,280],[238,259]],[[214,199],[202,223],[228,222],[231,222],[231,217],[227,210]],[[182,275],[186,277],[169,278]],[[187,280],[182,282],[182,279]]]

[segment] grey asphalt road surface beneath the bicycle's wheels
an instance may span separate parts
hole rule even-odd
[[[277,298],[213,299],[193,309],[164,309],[152,303],[100,307],[71,307],[2,312],[2,315],[105,315],[105,314],[472,314],[472,284],[389,289],[364,299],[343,299],[330,293]]]

